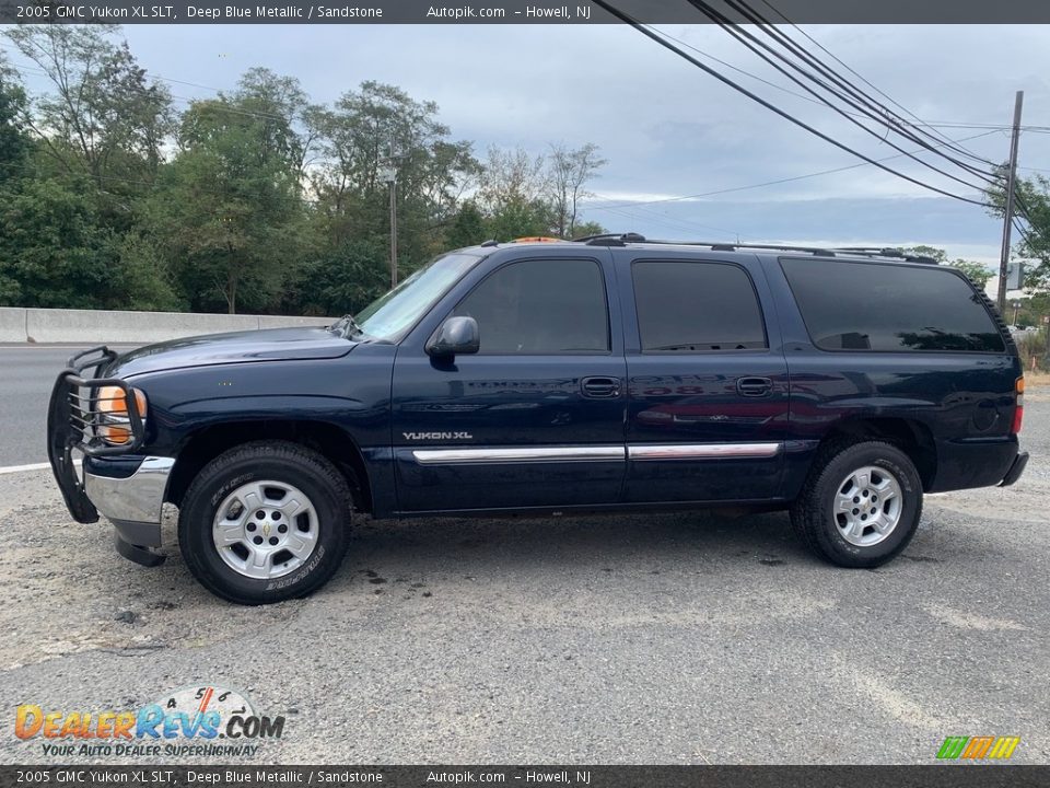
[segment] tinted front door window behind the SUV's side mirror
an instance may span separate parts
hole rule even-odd
[[[456,308],[483,354],[607,352],[609,316],[594,260],[524,260],[493,271]]]

